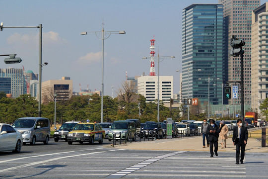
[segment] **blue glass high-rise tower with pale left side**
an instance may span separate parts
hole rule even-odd
[[[192,4],[182,17],[182,98],[222,103],[223,5]]]

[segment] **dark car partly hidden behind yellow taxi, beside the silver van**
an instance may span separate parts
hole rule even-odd
[[[63,139],[67,142],[68,132],[72,131],[74,126],[80,121],[69,121],[64,123],[58,130],[54,132],[54,141],[58,142],[60,139]]]

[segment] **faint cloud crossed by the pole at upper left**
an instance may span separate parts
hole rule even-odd
[[[39,44],[39,32],[36,34],[19,34],[14,33],[7,38],[9,45],[21,45],[21,44],[32,44],[36,46]],[[58,32],[43,32],[42,33],[42,45],[53,45],[67,43],[66,39],[60,37]]]

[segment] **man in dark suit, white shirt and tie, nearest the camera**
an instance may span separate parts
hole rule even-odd
[[[241,119],[238,119],[236,122],[237,122],[237,125],[233,131],[233,144],[236,145],[235,159],[236,159],[236,164],[239,164],[239,155],[240,155],[240,148],[241,148],[240,163],[243,164],[249,133],[248,133],[247,127],[242,126]]]

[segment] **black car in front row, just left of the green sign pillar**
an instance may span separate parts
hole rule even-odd
[[[145,138],[148,137],[155,137],[157,139],[162,137],[162,127],[161,124],[155,123],[155,122],[149,122],[145,123],[144,127],[141,129],[142,137],[144,136]]]

